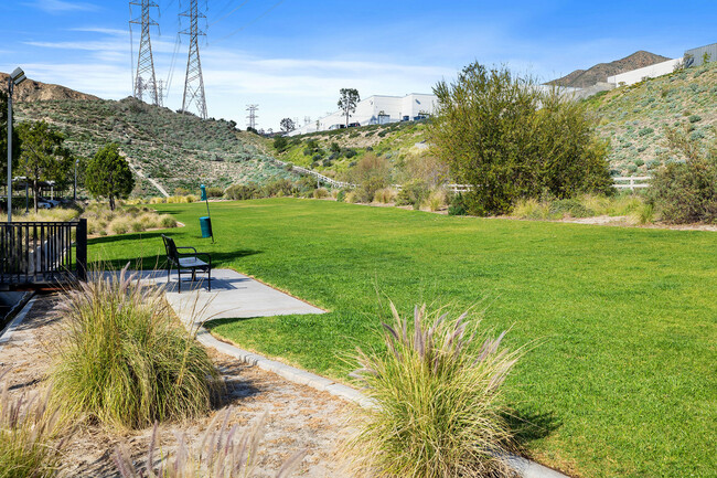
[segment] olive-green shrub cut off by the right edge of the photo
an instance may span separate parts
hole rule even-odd
[[[684,162],[671,162],[655,171],[651,203],[668,222],[717,221],[717,145],[706,147],[691,138],[688,130],[668,128],[665,136]]]

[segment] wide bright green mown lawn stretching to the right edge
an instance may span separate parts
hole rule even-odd
[[[581,477],[715,476],[715,233],[275,199],[212,204],[212,245],[204,204],[158,209],[188,224],[179,245],[331,310],[212,325],[245,348],[345,380],[336,357],[379,343],[387,299],[480,301],[511,346],[535,346],[506,382],[529,455]],[[161,249],[157,232],[90,242],[146,267]]]

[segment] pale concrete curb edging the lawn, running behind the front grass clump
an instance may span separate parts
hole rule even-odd
[[[320,392],[328,392],[339,399],[353,402],[364,408],[375,406],[375,403],[372,400],[366,399],[363,393],[355,389],[336,383],[325,376],[320,376],[315,373],[307,372],[306,370],[267,359],[258,353],[242,350],[236,346],[218,340],[204,327],[200,327],[196,331],[196,340],[203,346],[211,347],[222,353],[234,357],[243,363],[256,365],[261,370],[276,373],[289,382],[308,385]],[[567,475],[563,475],[559,471],[516,455],[507,455],[505,459],[509,466],[515,469],[515,471],[517,471],[523,478],[569,478]]]

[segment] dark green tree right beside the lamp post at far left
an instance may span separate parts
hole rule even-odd
[[[64,147],[65,137],[50,128],[45,121],[21,123],[18,136],[22,146],[18,160],[18,176],[24,176],[32,182],[34,210],[38,212],[40,187],[42,181],[54,181],[55,188],[63,189],[69,182],[69,171],[74,157]]]

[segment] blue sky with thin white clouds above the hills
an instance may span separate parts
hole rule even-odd
[[[189,1],[156,1],[156,70],[168,79],[180,4]],[[303,121],[334,110],[342,87],[362,97],[429,93],[473,61],[547,81],[638,50],[678,57],[717,42],[714,0],[200,4],[207,7],[201,53],[208,114],[242,128],[250,103],[259,105],[259,127],[278,129],[283,117]],[[103,98],[131,94],[128,1],[0,0],[0,71],[21,65],[33,79]],[[165,102],[173,109],[181,106],[186,49],[183,38]]]

